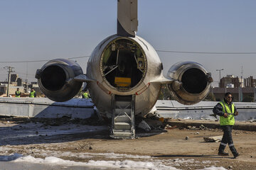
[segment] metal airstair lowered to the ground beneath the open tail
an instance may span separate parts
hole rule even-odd
[[[110,137],[133,139],[135,137],[135,95],[118,96],[112,94],[112,128]]]

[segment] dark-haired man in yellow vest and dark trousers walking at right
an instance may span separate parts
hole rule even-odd
[[[234,116],[238,115],[238,111],[232,102],[232,94],[230,92],[226,93],[223,101],[220,101],[213,108],[213,113],[220,116],[220,127],[223,129],[223,138],[220,142],[218,155],[228,156],[228,153],[224,152],[225,146],[228,144],[234,158],[238,157],[240,154],[236,151],[232,139],[232,129],[233,125],[235,125]]]

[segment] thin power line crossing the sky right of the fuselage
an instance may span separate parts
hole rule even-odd
[[[156,50],[157,52],[172,52],[172,53],[188,53],[188,54],[208,54],[208,55],[255,55],[256,52],[189,52],[189,51],[169,51]]]

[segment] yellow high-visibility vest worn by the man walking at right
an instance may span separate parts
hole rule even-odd
[[[235,125],[235,105],[231,104],[231,110],[225,101],[221,101],[220,105],[223,107],[223,113],[228,113],[228,118],[224,118],[224,116],[220,116],[220,125]]]

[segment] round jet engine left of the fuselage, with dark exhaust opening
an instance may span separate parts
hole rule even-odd
[[[50,60],[36,71],[38,85],[48,98],[53,101],[68,101],[82,86],[82,82],[73,78],[83,74],[80,65],[72,60]]]

